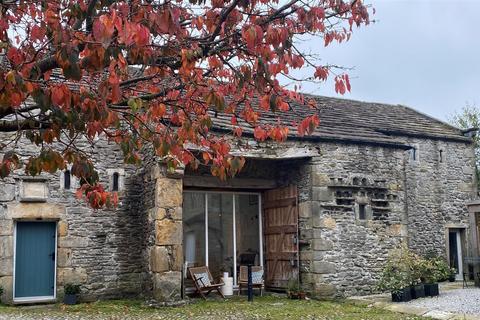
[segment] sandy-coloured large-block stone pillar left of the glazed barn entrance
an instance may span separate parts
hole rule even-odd
[[[168,172],[153,158],[145,164],[144,207],[148,215],[149,287],[158,301],[182,296],[183,270],[183,170]]]

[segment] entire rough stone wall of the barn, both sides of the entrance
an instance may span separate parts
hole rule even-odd
[[[468,233],[465,205],[476,191],[472,146],[405,142],[417,148],[416,160],[399,148],[289,142],[289,148],[316,154],[249,160],[237,177],[298,186],[301,282],[317,297],[373,292],[389,251],[402,242],[422,254],[445,255],[446,228],[465,227]],[[167,172],[150,155],[141,168],[123,166],[121,152],[105,142],[93,151],[104,184],[113,171],[122,174],[115,210],[88,208],[75,198],[75,186],[61,187],[60,173],[29,182],[19,170],[0,181],[0,285],[7,301],[14,221],[37,218],[58,221],[59,296],[64,283],[78,282],[84,300],[139,294],[180,298],[183,172]],[[24,150],[23,156],[31,152]],[[30,202],[22,201],[26,195]]]

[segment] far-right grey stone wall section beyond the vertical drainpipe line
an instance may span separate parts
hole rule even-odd
[[[420,254],[447,253],[446,228],[465,228],[467,202],[476,194],[473,146],[408,139],[416,159],[407,162],[409,246]],[[465,235],[468,239],[468,235]]]

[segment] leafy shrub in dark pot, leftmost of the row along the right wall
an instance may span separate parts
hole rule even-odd
[[[383,268],[378,289],[390,291],[394,302],[407,302],[412,299],[410,284],[413,275],[410,258],[408,249],[403,246],[390,253]]]

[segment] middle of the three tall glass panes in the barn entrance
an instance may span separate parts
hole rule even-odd
[[[233,274],[232,194],[208,194],[208,268],[215,280]]]

